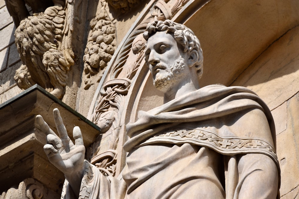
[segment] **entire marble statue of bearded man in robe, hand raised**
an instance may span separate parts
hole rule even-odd
[[[48,133],[45,152],[67,180],[63,197],[276,198],[279,166],[266,104],[244,87],[199,88],[202,50],[184,25],[155,20],[144,38],[145,60],[164,104],[140,111],[126,125],[128,155],[119,178],[84,161],[79,127],[73,144],[57,109],[60,138],[37,116]]]

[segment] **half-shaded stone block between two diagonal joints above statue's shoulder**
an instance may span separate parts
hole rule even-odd
[[[299,91],[299,26],[265,50],[233,85],[256,92],[272,110]]]

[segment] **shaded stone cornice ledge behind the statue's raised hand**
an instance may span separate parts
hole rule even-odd
[[[0,193],[34,178],[60,198],[64,175],[48,161],[43,150],[46,135],[36,125],[36,115],[42,115],[57,133],[54,108],[60,110],[71,139],[74,125],[80,127],[86,147],[99,135],[99,127],[38,85],[0,104],[0,182],[5,182]]]

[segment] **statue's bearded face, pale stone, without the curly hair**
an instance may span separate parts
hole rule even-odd
[[[187,67],[185,55],[181,53],[176,40],[166,32],[157,32],[147,41],[145,60],[152,73],[154,86],[162,92],[182,81]]]

